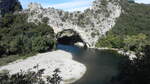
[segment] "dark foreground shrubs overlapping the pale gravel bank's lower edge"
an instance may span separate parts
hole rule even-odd
[[[35,66],[38,68],[37,66]],[[37,72],[28,70],[27,72],[20,71],[19,73],[10,75],[8,71],[0,73],[0,84],[60,84],[62,77],[59,76],[59,69],[54,71],[54,74],[43,80],[42,74],[45,69],[40,69]]]

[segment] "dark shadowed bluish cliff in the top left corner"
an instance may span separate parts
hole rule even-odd
[[[0,17],[9,12],[22,9],[18,0],[0,0]]]

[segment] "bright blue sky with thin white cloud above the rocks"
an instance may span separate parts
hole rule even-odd
[[[30,2],[40,3],[43,7],[54,7],[65,11],[83,11],[91,6],[94,0],[20,0],[23,8],[27,8]],[[150,4],[150,0],[136,0],[138,3]]]

